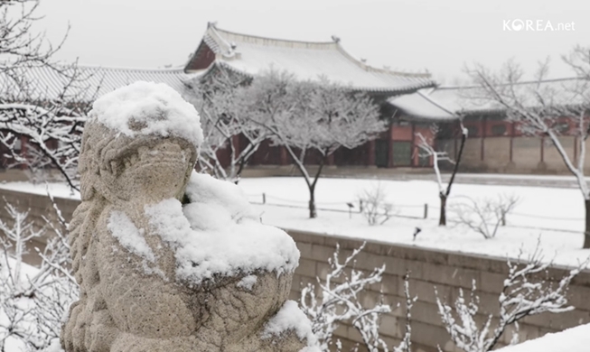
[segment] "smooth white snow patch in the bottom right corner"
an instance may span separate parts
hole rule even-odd
[[[577,352],[587,351],[590,345],[590,324],[566,329],[519,345],[498,349],[498,352]]]

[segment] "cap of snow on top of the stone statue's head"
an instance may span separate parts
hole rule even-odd
[[[164,83],[138,81],[118,88],[98,98],[89,117],[130,137],[172,135],[196,147],[203,139],[197,110]],[[136,128],[132,128],[134,125]]]

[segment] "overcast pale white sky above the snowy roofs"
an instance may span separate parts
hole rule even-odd
[[[302,41],[332,34],[357,58],[391,69],[424,71],[446,84],[465,63],[497,69],[510,58],[533,71],[552,58],[552,77],[571,76],[560,54],[590,45],[586,0],[43,0],[39,28],[57,41],[70,23],[60,60],[157,68],[183,65],[207,22],[233,32]],[[505,31],[514,20],[574,23],[570,31]],[[516,23],[518,24],[518,22]],[[571,29],[571,27],[570,27]]]

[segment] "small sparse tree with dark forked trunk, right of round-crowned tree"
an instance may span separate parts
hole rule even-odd
[[[438,133],[438,128],[434,125],[432,129],[432,138],[426,138],[423,134],[416,134],[418,137],[418,148],[420,149],[420,156],[432,157],[433,168],[435,169],[436,183],[438,184],[438,199],[440,199],[440,216],[438,218],[439,226],[446,226],[446,200],[451,195],[451,187],[453,187],[454,177],[459,171],[459,164],[461,163],[461,157],[467,140],[467,129],[461,124],[461,144],[459,145],[459,153],[457,153],[456,161],[453,160],[446,152],[439,152],[435,150],[435,136]],[[451,179],[448,181],[446,187],[443,184],[443,178],[440,172],[440,165],[438,162],[451,162],[453,167],[453,173],[451,173]]]

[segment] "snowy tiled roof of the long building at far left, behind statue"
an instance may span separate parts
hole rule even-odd
[[[60,66],[58,66],[60,68]],[[52,100],[60,96],[64,86],[68,84],[68,75],[74,70],[62,67],[66,75],[49,67],[33,67],[23,70],[24,81],[30,84],[28,99]],[[123,69],[93,66],[78,66],[77,79],[68,89],[67,95],[75,97],[79,102],[89,102],[101,97],[117,88],[124,87],[138,80],[165,83],[179,93],[183,93],[183,80],[188,79],[183,69]],[[5,77],[0,76],[0,87],[4,87],[3,93],[10,92],[13,98],[18,97],[15,87],[11,87]]]

